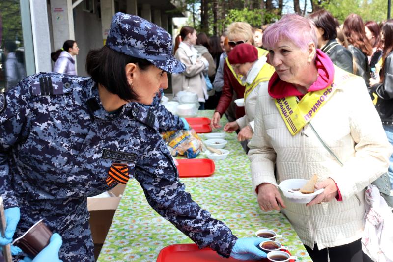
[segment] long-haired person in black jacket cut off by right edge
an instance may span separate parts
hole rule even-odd
[[[382,126],[393,145],[393,19],[382,27],[382,68],[377,79],[370,78],[370,90]],[[389,159],[389,178],[393,187],[393,155]]]

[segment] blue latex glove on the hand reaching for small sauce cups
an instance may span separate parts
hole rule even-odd
[[[239,260],[260,260],[266,253],[259,249],[259,243],[269,239],[262,237],[246,237],[237,239],[230,256]]]

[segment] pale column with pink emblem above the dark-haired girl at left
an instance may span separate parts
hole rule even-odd
[[[53,46],[55,50],[63,47],[65,40],[75,39],[72,0],[51,0]]]

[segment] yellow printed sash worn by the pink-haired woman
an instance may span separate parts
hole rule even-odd
[[[356,76],[335,66],[335,79],[331,86],[322,90],[308,92],[299,103],[296,96],[276,99],[276,107],[289,132],[292,135],[299,132],[332,97],[337,86],[344,86],[347,81],[353,78],[356,78]]]

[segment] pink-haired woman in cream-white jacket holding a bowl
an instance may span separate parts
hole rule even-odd
[[[371,261],[361,245],[365,188],[387,171],[392,146],[365,81],[316,49],[315,29],[299,15],[269,26],[263,43],[276,72],[259,90],[248,144],[258,204],[287,216],[313,261]],[[324,191],[308,204],[290,202],[277,189],[314,174],[315,188]]]

